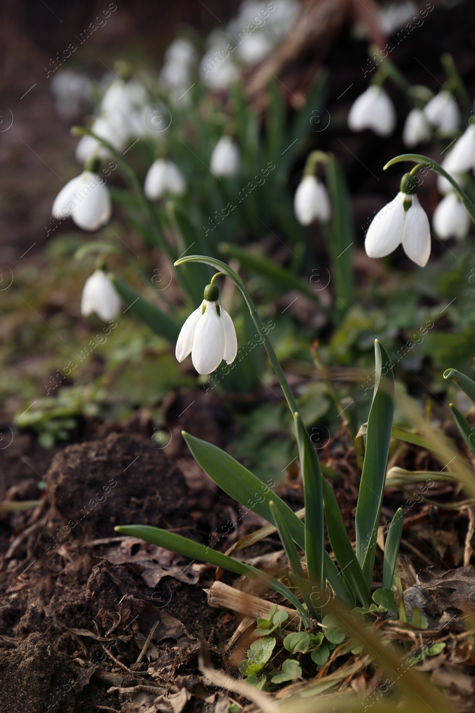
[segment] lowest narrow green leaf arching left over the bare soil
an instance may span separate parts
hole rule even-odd
[[[261,572],[261,570],[251,567],[251,565],[237,562],[236,560],[233,560],[233,558],[223,555],[221,552],[216,552],[211,547],[205,547],[204,545],[194,542],[193,540],[182,537],[182,535],[170,533],[167,530],[162,530],[161,528],[153,528],[151,525],[118,525],[114,528],[114,530],[118,533],[123,533],[124,535],[140,538],[141,540],[150,542],[153,545],[165,547],[167,550],[176,552],[179,555],[184,555],[184,557],[189,557],[193,560],[200,560],[201,562],[207,562],[210,565],[215,565],[216,567],[222,567],[224,570],[229,570],[230,572],[234,572],[238,575],[244,575],[246,577],[251,577],[252,579],[265,580],[269,587],[283,595],[283,597],[286,597],[286,599],[288,599],[288,601],[296,607],[296,610],[301,617],[308,622],[308,614],[306,610],[301,605],[301,602],[298,601],[297,597],[291,593],[291,590],[289,590],[286,585],[278,582],[278,580]]]

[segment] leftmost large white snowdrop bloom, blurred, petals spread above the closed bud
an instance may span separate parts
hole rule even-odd
[[[82,230],[98,230],[110,220],[112,204],[105,180],[90,170],[68,181],[55,198],[51,215],[73,218]]]

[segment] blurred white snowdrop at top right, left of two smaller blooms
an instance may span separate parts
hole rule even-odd
[[[353,103],[348,114],[352,131],[372,129],[378,136],[390,136],[395,130],[396,111],[384,89],[372,84]]]

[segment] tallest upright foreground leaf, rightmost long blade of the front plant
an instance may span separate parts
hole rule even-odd
[[[392,363],[375,339],[375,391],[367,420],[365,461],[356,506],[356,556],[368,587],[375,561],[377,526],[385,491],[387,453],[394,416]]]

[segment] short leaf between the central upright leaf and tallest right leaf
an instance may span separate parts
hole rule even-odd
[[[369,607],[371,605],[370,589],[351,546],[335,493],[330,483],[327,483],[324,478],[322,483],[328,537],[330,538],[330,545],[336,561],[340,565],[342,573],[345,573],[345,578],[350,583],[362,605]]]

